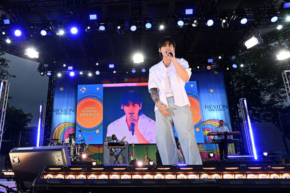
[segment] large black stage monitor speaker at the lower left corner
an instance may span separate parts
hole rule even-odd
[[[30,189],[33,181],[45,166],[71,165],[68,146],[15,147],[10,153],[10,161],[17,189]]]

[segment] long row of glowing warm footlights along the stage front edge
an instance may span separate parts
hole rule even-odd
[[[284,174],[46,174],[44,179],[290,179]]]

